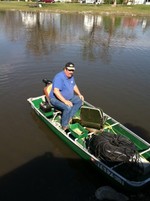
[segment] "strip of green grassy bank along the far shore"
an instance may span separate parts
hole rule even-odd
[[[150,5],[93,5],[80,3],[42,3],[42,7],[36,7],[34,2],[0,1],[0,10],[22,10],[22,11],[50,11],[50,12],[89,12],[95,14],[114,15],[137,15],[150,16]]]

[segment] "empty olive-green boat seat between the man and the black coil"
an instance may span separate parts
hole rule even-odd
[[[105,118],[103,111],[99,108],[82,106],[80,117],[82,126],[97,130],[103,128]]]

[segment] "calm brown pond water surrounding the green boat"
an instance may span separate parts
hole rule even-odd
[[[87,101],[150,142],[150,18],[0,12],[1,201],[92,200],[110,185],[26,101],[68,61]]]

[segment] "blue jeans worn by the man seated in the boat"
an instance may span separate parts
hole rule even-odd
[[[57,98],[51,98],[50,102],[51,104],[58,110],[62,111],[62,118],[61,118],[61,125],[62,127],[67,127],[69,120],[75,115],[75,113],[78,111],[78,109],[82,105],[82,100],[79,98],[79,96],[74,95],[72,99],[70,99],[73,103],[72,107],[69,107],[65,105],[63,102],[58,100]]]

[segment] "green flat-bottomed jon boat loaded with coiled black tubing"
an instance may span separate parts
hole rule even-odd
[[[150,144],[101,109],[85,101],[64,131],[61,112],[48,105],[45,95],[28,102],[57,136],[113,183],[129,189],[150,184]]]

